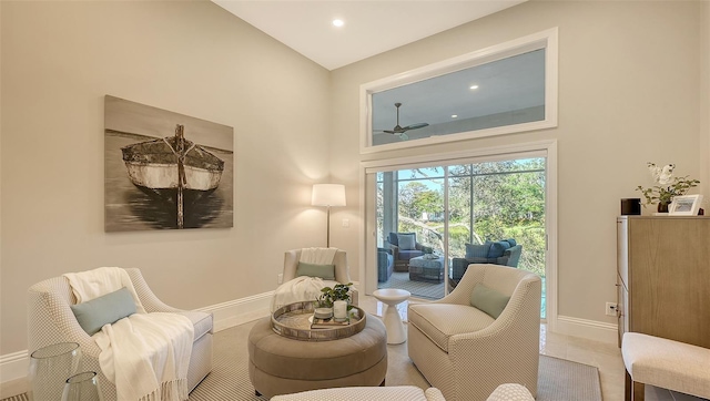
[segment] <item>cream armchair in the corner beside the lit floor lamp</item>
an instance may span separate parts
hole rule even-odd
[[[286,250],[284,254],[284,269],[283,269],[283,279],[282,286],[286,285],[288,281],[298,277],[298,263],[301,261],[301,254],[303,249],[291,249]],[[336,284],[348,284],[351,282],[351,273],[349,266],[347,264],[347,253],[343,249],[337,249],[335,251],[335,256],[333,257],[333,266],[334,266],[334,279],[323,279],[323,285],[325,287],[333,287]],[[283,288],[280,286],[280,288]],[[304,291],[301,296],[301,299],[293,300],[295,301],[304,301],[304,300],[315,300],[315,298],[320,295],[321,289],[315,288],[312,291]],[[276,289],[276,295],[278,294],[278,288]],[[276,298],[276,296],[275,296]],[[351,287],[351,300],[353,305],[357,305],[358,301],[357,289]],[[278,307],[280,302],[272,302],[272,309]]]

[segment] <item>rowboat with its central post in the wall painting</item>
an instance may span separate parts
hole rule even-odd
[[[121,152],[135,186],[165,198],[176,195],[178,228],[183,228],[184,194],[214,191],[224,172],[223,160],[185,140],[183,125],[175,127],[174,136],[124,146]]]

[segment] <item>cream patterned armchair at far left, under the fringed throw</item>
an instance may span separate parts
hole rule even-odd
[[[186,316],[194,326],[194,341],[187,368],[187,389],[192,391],[212,370],[212,315],[175,309],[163,304],[151,291],[141,270],[125,271],[146,312],[175,312]],[[115,387],[101,372],[94,340],[79,326],[70,305],[77,304],[69,280],[64,277],[40,281],[28,290],[28,348],[34,350],[58,342],[77,342],[82,352],[82,370],[99,372],[99,385],[104,401],[116,399]]]

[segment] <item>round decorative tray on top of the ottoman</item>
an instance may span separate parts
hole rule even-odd
[[[353,307],[348,311],[349,325],[334,328],[311,328],[315,301],[290,304],[271,316],[271,328],[277,335],[302,341],[329,341],[356,335],[365,328],[365,311]]]

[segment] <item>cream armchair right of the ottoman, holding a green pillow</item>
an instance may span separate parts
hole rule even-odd
[[[477,284],[510,297],[497,318],[471,306]],[[523,384],[536,397],[540,295],[541,280],[532,273],[469,265],[448,296],[409,305],[409,358],[447,400],[483,401],[503,383]],[[479,294],[475,301],[490,309]]]

